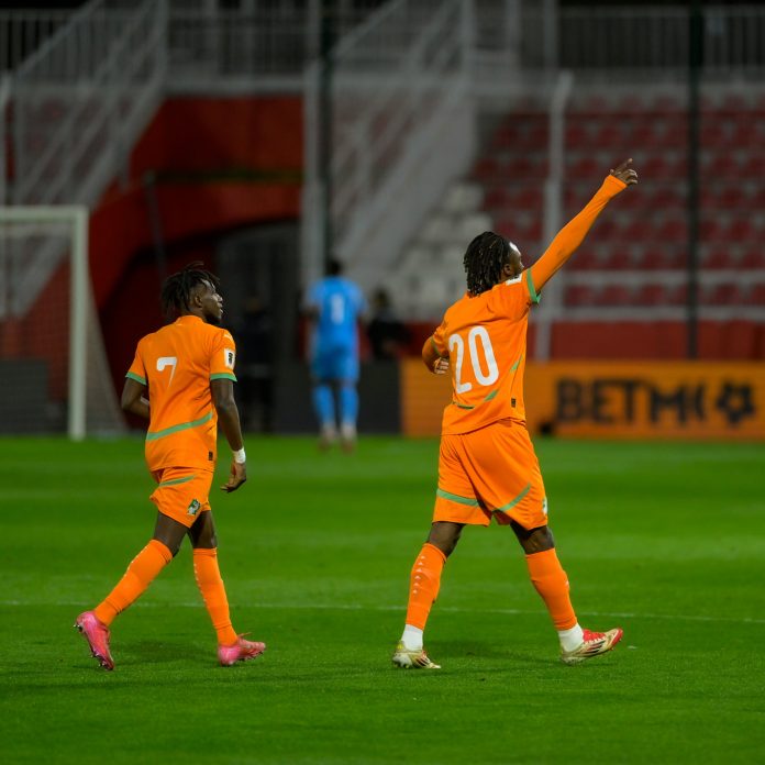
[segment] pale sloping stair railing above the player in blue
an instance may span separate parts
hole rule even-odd
[[[386,273],[475,148],[472,3],[399,0],[332,55],[330,177],[320,173],[318,65],[306,82],[303,278],[321,273],[324,182],[335,253],[362,284]]]

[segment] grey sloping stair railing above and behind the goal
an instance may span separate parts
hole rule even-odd
[[[13,73],[9,201],[92,207],[124,169],[160,102],[166,11],[165,0],[144,0],[132,11],[95,0]],[[11,304],[23,314],[65,253],[14,247]]]

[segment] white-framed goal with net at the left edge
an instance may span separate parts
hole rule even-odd
[[[88,271],[85,207],[0,207],[0,432],[125,430]]]

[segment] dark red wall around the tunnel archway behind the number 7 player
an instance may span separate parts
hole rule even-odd
[[[221,234],[300,214],[299,98],[170,99],[90,221],[90,273],[115,384],[163,321],[153,218],[169,273],[212,263]]]

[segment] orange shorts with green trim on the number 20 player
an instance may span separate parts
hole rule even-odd
[[[441,436],[433,521],[489,525],[547,524],[540,463],[524,425],[500,420],[470,433]]]

